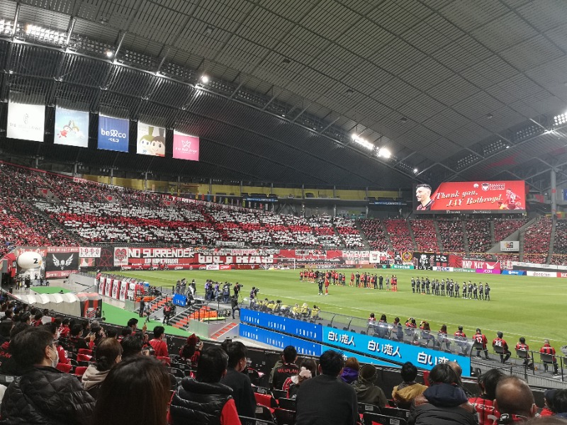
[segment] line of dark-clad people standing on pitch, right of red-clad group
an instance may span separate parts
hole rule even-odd
[[[439,282],[439,279],[430,280],[430,278],[413,278],[411,280],[412,283],[412,293],[417,294],[431,294],[431,295],[441,295],[445,297],[455,297],[458,298],[459,291],[461,290],[461,285],[459,282],[454,282],[453,279],[442,279]],[[483,283],[472,283],[471,280],[468,280],[468,285],[466,282],[463,282],[462,285],[463,289],[463,298],[468,298],[469,300],[486,300],[490,301],[490,285],[486,282],[484,285]]]

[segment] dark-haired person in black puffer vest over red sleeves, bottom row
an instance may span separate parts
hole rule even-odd
[[[183,378],[169,408],[169,424],[240,425],[232,388],[220,383],[227,371],[223,348],[209,347],[201,353],[196,379]]]

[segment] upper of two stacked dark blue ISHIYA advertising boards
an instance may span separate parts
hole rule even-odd
[[[320,324],[301,322],[301,320],[291,319],[290,317],[281,317],[254,310],[242,309],[241,312],[240,322],[300,336],[305,339],[313,339],[313,341],[322,341],[323,327]]]

